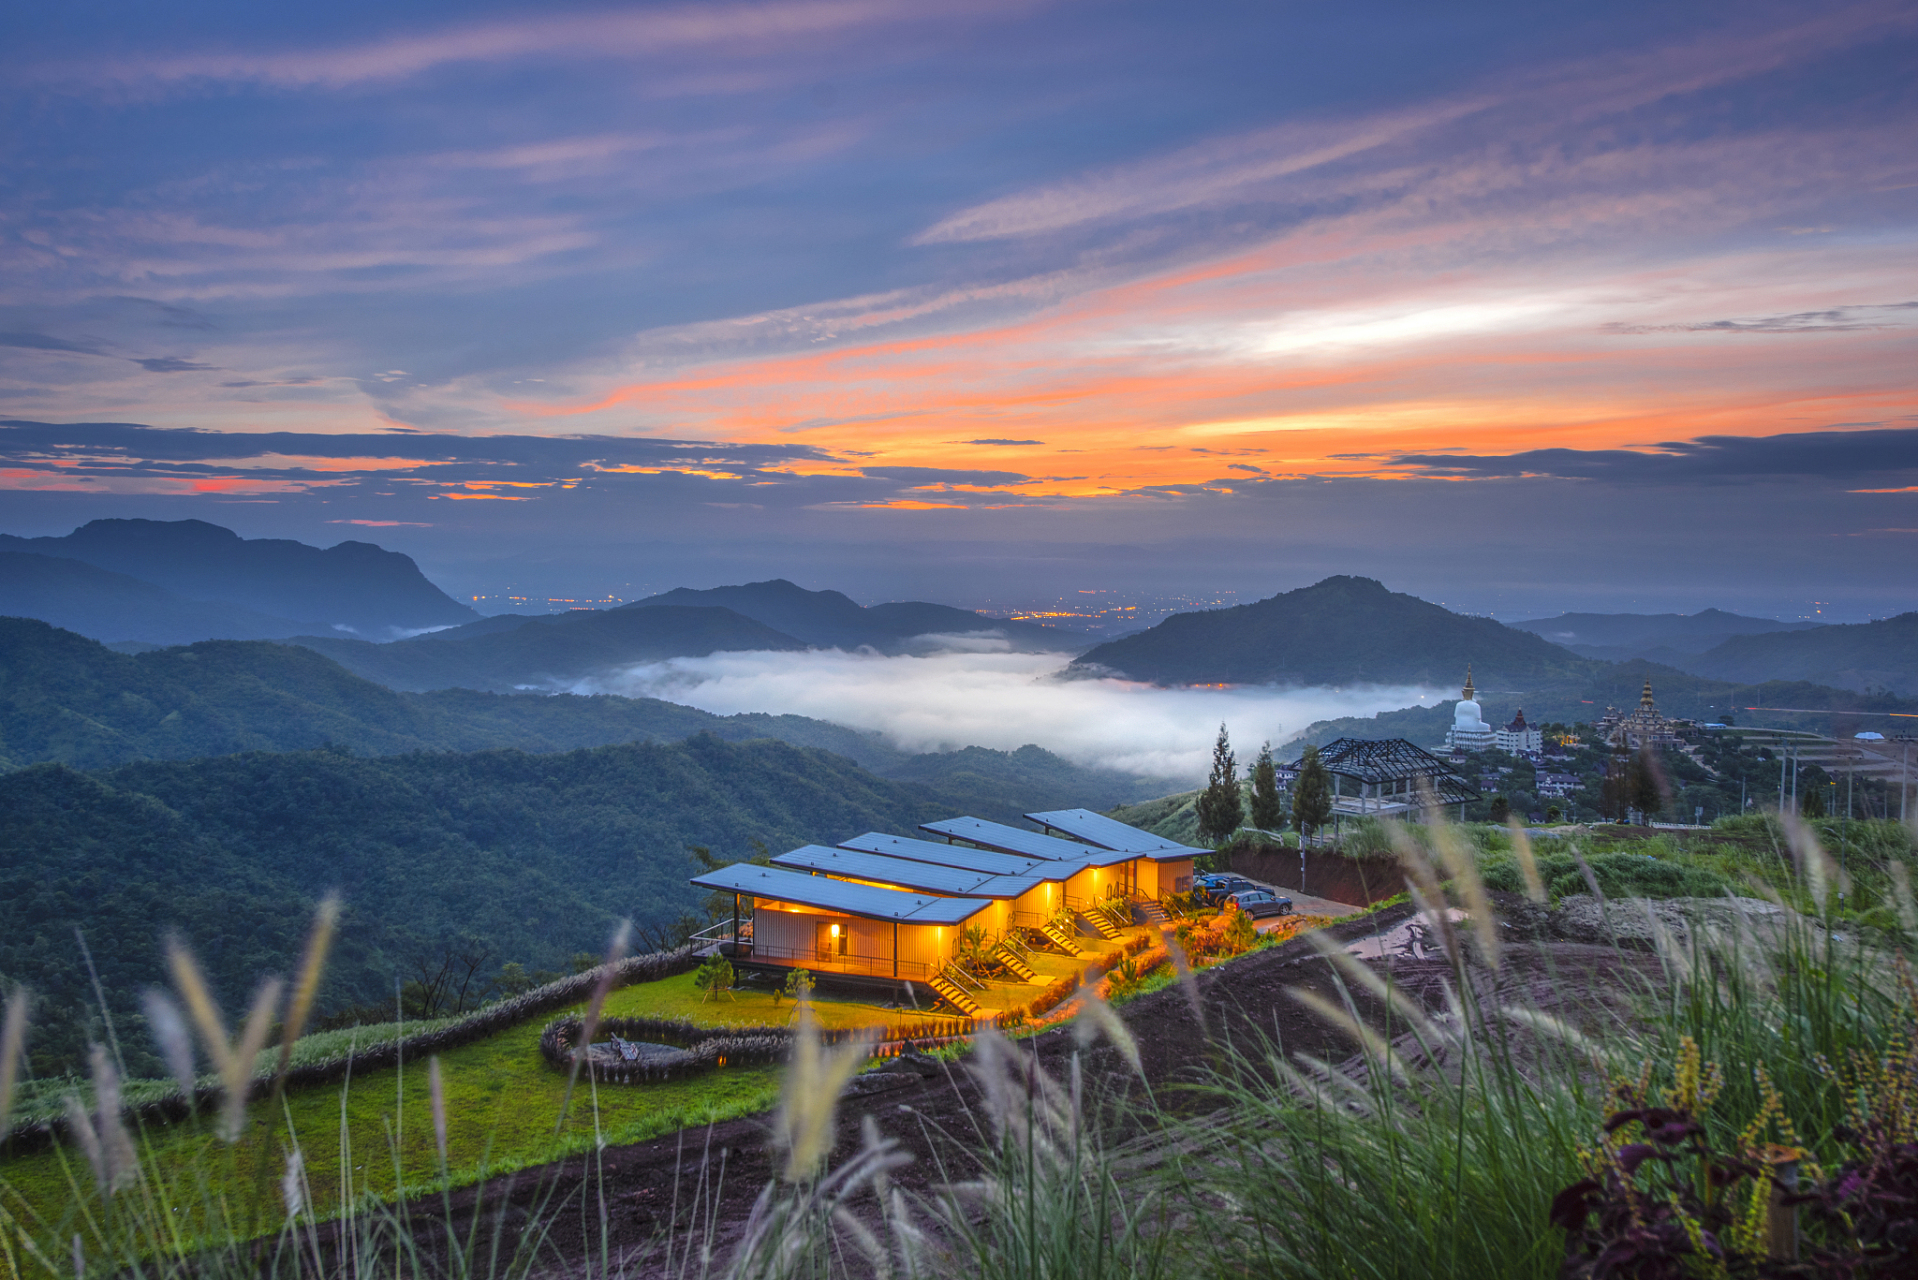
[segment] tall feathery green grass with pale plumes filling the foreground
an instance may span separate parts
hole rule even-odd
[[[403,1102],[414,1125],[420,1113],[432,1119],[437,1178],[418,1186],[403,1174],[401,1115],[387,1150],[345,1150],[353,1142],[347,1082],[341,1176],[316,1201],[301,1146],[311,1138],[295,1132],[278,1094],[247,1088],[257,1075],[251,1055],[265,1042],[259,1021],[280,1007],[278,992],[263,994],[247,1027],[232,1034],[211,1006],[198,1007],[196,973],[176,960],[178,1031],[163,1040],[192,1027],[198,1044],[182,1054],[173,1040],[161,1050],[169,1061],[186,1061],[182,1069],[205,1057],[232,1082],[221,1115],[186,1123],[199,1126],[207,1161],[226,1150],[236,1125],[255,1138],[272,1136],[274,1159],[255,1161],[251,1176],[259,1199],[278,1205],[278,1224],[261,1232],[211,1192],[188,1213],[182,1197],[192,1196],[196,1176],[203,1188],[213,1180],[194,1167],[163,1169],[155,1134],[125,1125],[117,1063],[102,1050],[90,1102],[71,1103],[77,1138],[59,1148],[67,1209],[52,1219],[23,1213],[0,1167],[0,1280],[107,1272],[136,1280],[238,1280],[242,1272],[526,1280],[562,1270],[608,1280],[1550,1276],[1565,1259],[1565,1234],[1550,1221],[1554,1196],[1594,1161],[1615,1157],[1602,1125],[1621,1080],[1636,1082],[1634,1096],[1682,1092],[1686,1073],[1717,1065],[1722,1088],[1701,1111],[1711,1142],[1749,1144],[1770,1126],[1778,1140],[1803,1142],[1809,1165],[1836,1167],[1849,1150],[1843,1125],[1857,1123],[1860,1105],[1845,1080],[1860,1065],[1910,1071],[1918,1063],[1897,1057],[1901,1036],[1918,1029],[1918,990],[1905,967],[1918,942],[1910,933],[1918,904],[1906,892],[1887,904],[1903,923],[1857,927],[1837,896],[1855,881],[1814,831],[1780,829],[1789,846],[1780,864],[1788,883],[1772,889],[1774,902],[1734,902],[1709,921],[1694,917],[1676,936],[1648,915],[1653,950],[1579,952],[1577,963],[1598,967],[1598,979],[1571,969],[1565,954],[1500,935],[1481,862],[1513,858],[1525,890],[1542,898],[1536,867],[1550,854],[1532,860],[1523,837],[1467,837],[1442,825],[1417,841],[1385,835],[1404,860],[1435,952],[1404,965],[1368,963],[1335,942],[1320,944],[1300,969],[1316,990],[1298,986],[1291,1000],[1343,1036],[1341,1052],[1312,1055],[1279,1034],[1228,1044],[1218,1019],[1201,1017],[1199,1034],[1212,1040],[1195,1042],[1191,1061],[1206,1065],[1168,1092],[1162,1080],[1147,1084],[1132,1031],[1088,990],[1070,1044],[982,1031],[969,1054],[947,1063],[963,1086],[957,1125],[936,1128],[909,1107],[888,1109],[886,1126],[867,1119],[857,1142],[840,1146],[838,1096],[869,1046],[823,1044],[807,1009],[773,1121],[775,1174],[763,1186],[727,1186],[727,1161],[702,1151],[690,1134],[658,1236],[623,1253],[612,1245],[616,1188],[602,1167],[604,1140],[587,1146],[583,1180],[533,1186],[529,1213],[506,1215],[504,1201],[497,1211],[481,1203],[453,1213],[447,1128],[460,1117],[447,1115],[437,1061],[424,1073],[424,1090]],[[1899,881],[1891,871],[1906,867],[1908,842],[1868,856],[1882,860],[1891,892],[1908,887],[1908,873]],[[1469,919],[1454,927],[1448,904],[1463,906]],[[309,956],[324,956],[324,946]],[[315,963],[295,979],[295,992],[311,990]],[[1197,979],[1181,971],[1178,981],[1193,1007],[1203,1007]],[[1208,983],[1216,996],[1224,979]],[[0,1021],[0,1109],[19,1061],[25,1007],[15,994]],[[292,1061],[295,1054],[282,1054],[282,1071]],[[1910,1086],[1918,1090],[1918,1079]],[[575,1105],[596,1132],[589,1075]],[[911,1157],[886,1132],[907,1125],[934,1151],[934,1167],[919,1171],[913,1192],[901,1184]],[[834,1150],[844,1151],[836,1163]],[[384,1196],[366,1173],[380,1161],[391,1165],[384,1186],[395,1188]],[[526,1188],[516,1203],[527,1203]],[[725,1205],[737,1203],[750,1209],[735,1221]],[[422,1207],[437,1213],[422,1215]],[[562,1251],[554,1244],[562,1224],[585,1244]]]

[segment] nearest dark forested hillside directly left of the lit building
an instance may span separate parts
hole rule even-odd
[[[334,1009],[391,1000],[395,975],[458,936],[493,948],[493,975],[508,960],[564,967],[621,915],[667,923],[700,902],[687,844],[746,858],[756,839],[777,852],[957,812],[1018,821],[1032,794],[949,793],[710,735],[550,756],[259,752],[92,775],[44,764],[0,777],[0,975],[36,992],[38,1069],[54,1069],[84,1050],[75,929],[125,1019],[161,981],[169,929],[238,1007],[259,973],[297,961],[313,904],[339,889],[322,994]],[[123,1023],[121,1040],[148,1038]]]

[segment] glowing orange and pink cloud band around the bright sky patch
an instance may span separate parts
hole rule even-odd
[[[1751,344],[1694,324],[1876,296],[1882,257],[1780,251],[1623,274],[1423,267],[1425,249],[1469,230],[1346,225],[1017,322],[713,361],[508,409],[573,430],[618,411],[639,413],[625,430],[708,439],[800,432],[894,466],[1007,466],[1003,449],[967,439],[1045,441],[1011,462],[1032,480],[999,487],[1020,499],[1199,486],[1233,461],[1379,476],[1398,453],[1651,447],[1918,411],[1908,326]],[[1918,290],[1918,265],[1903,274]]]

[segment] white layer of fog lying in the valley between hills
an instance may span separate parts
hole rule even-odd
[[[944,651],[911,656],[717,652],[625,668],[577,693],[652,697],[731,716],[771,712],[873,729],[903,750],[1026,743],[1076,764],[1151,777],[1205,777],[1220,722],[1249,762],[1258,745],[1316,720],[1371,716],[1442,697],[1421,687],[1155,689],[1118,679],[1057,679],[1064,654]],[[1003,645],[999,647],[1003,649]]]

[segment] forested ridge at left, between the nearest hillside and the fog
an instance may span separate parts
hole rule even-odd
[[[44,622],[0,618],[0,770],[52,760],[96,770],[328,743],[380,756],[547,752],[694,733],[821,747],[888,777],[942,781],[988,800],[1020,794],[1036,808],[1118,804],[1158,787],[1036,747],[909,754],[878,735],[806,716],[713,716],[658,699],[393,693],[290,645],[205,641],[129,656]]]

